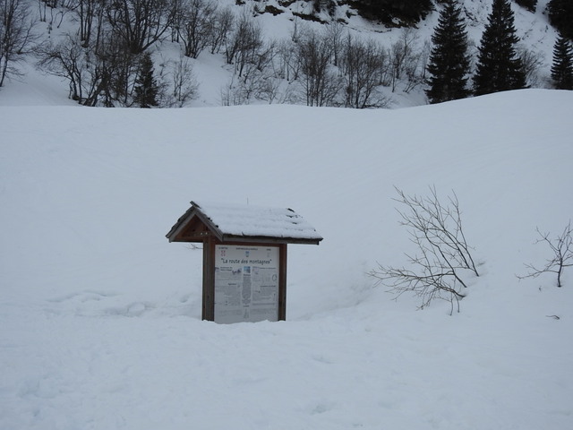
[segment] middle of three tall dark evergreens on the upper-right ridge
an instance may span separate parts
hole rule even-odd
[[[493,0],[480,41],[474,77],[476,95],[526,87],[526,73],[516,52],[518,41],[509,0]]]

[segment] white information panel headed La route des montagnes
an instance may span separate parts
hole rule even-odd
[[[215,246],[215,322],[278,321],[278,246]]]

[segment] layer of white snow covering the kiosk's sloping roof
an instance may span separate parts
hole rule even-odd
[[[224,235],[290,237],[321,240],[301,215],[288,208],[250,204],[192,202]]]

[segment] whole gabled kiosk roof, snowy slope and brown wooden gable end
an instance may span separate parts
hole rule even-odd
[[[191,202],[167,233],[169,242],[272,242],[319,245],[322,237],[292,209]]]

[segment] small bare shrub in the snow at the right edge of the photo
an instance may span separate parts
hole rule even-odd
[[[523,280],[525,278],[537,278],[543,273],[557,274],[557,287],[562,287],[561,275],[566,267],[573,266],[573,236],[571,236],[571,221],[563,228],[560,236],[550,239],[549,233],[542,233],[539,228],[535,231],[540,236],[535,241],[535,244],[545,243],[549,245],[552,250],[552,258],[547,260],[543,267],[539,268],[533,264],[526,264],[529,272],[526,275],[517,275],[517,278]]]

